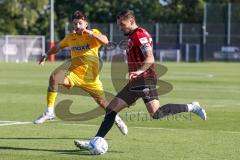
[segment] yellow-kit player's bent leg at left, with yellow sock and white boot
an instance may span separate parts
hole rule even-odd
[[[49,78],[47,107],[44,113],[34,121],[35,124],[41,124],[46,120],[52,120],[55,118],[54,106],[57,97],[58,85],[64,85],[66,87],[71,86],[68,78],[65,77],[64,72],[61,70],[54,72]]]

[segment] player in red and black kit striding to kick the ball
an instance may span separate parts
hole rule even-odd
[[[133,104],[138,98],[143,99],[153,119],[181,112],[193,112],[206,120],[206,112],[198,102],[160,106],[156,89],[153,42],[150,34],[136,24],[134,12],[131,10],[120,12],[117,16],[117,24],[124,35],[129,38],[127,50],[129,82],[108,105],[96,136],[105,137],[113,126],[117,113]],[[83,141],[75,140],[75,145],[88,149],[88,143],[83,143]]]

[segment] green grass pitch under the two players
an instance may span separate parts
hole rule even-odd
[[[168,72],[162,79],[174,89],[160,97],[161,104],[198,100],[207,111],[207,121],[188,113],[153,121],[142,116],[147,110],[140,100],[121,112],[129,134],[121,135],[114,126],[106,137],[109,150],[101,156],[80,151],[73,140],[94,136],[102,117],[21,124],[43,112],[48,77],[60,64],[0,63],[0,160],[240,159],[240,63],[163,63]],[[115,93],[109,63],[103,65],[101,80],[105,90]],[[97,106],[91,98],[64,94],[57,102],[66,98],[74,100],[73,113]]]

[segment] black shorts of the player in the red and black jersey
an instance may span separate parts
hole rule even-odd
[[[142,98],[144,103],[148,103],[154,99],[158,100],[156,85],[156,78],[139,78],[129,81],[116,97],[124,100],[129,106],[139,98]]]

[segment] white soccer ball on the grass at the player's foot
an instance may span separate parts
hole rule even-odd
[[[91,154],[104,154],[108,150],[107,141],[102,137],[93,137],[89,142],[89,151]]]

